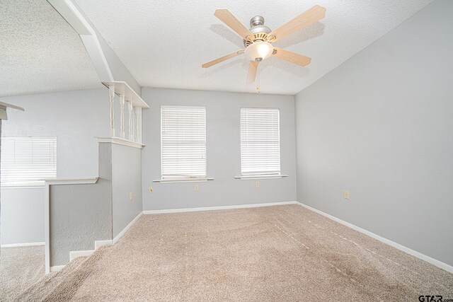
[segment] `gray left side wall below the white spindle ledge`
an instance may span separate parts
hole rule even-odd
[[[142,212],[142,149],[112,146],[113,238]],[[133,193],[130,200],[129,194]]]

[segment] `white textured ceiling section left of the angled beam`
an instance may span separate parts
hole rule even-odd
[[[0,96],[100,87],[79,35],[45,0],[0,0]]]

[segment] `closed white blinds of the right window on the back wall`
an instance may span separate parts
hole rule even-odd
[[[241,108],[241,174],[280,175],[280,110]]]

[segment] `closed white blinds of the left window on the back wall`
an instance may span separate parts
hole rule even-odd
[[[206,109],[161,107],[162,179],[206,178]]]

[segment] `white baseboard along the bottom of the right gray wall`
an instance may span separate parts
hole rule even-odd
[[[359,231],[360,233],[364,233],[365,235],[367,235],[367,236],[369,236],[371,238],[374,238],[376,240],[379,240],[382,243],[390,245],[391,247],[397,248],[398,250],[402,250],[403,252],[406,252],[409,255],[413,255],[414,257],[417,257],[420,260],[426,261],[426,262],[428,262],[428,263],[430,263],[432,265],[435,265],[436,267],[440,267],[441,269],[445,269],[447,272],[453,273],[453,267],[451,265],[447,265],[447,263],[444,263],[444,262],[439,261],[439,260],[435,260],[434,258],[429,257],[427,255],[424,255],[421,252],[417,252],[416,250],[412,250],[411,248],[407,248],[404,245],[401,245],[399,243],[396,243],[394,241],[391,241],[389,239],[381,237],[381,236],[379,236],[379,235],[377,235],[375,233],[367,231],[364,228],[360,228],[358,226],[355,226],[352,223],[349,223],[347,221],[343,221],[343,220],[337,218],[336,216],[332,216],[330,214],[324,213],[323,211],[319,211],[319,209],[314,209],[314,208],[312,208],[310,206],[307,206],[306,204],[302,204],[301,202],[297,202],[297,204],[300,204],[302,207],[305,207],[306,209],[314,211],[314,212],[316,212],[318,214],[326,216],[328,219],[332,219],[333,221],[336,221],[336,222],[341,223],[341,224],[343,224],[345,226],[348,226],[348,227],[354,229],[355,231]]]

